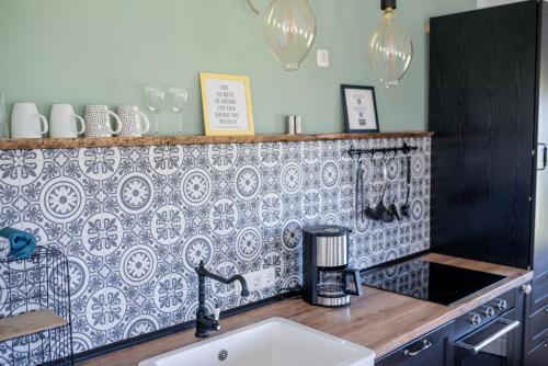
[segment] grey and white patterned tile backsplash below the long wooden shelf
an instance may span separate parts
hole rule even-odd
[[[33,232],[70,262],[75,352],[194,319],[204,260],[221,275],[274,267],[299,283],[309,224],[351,227],[351,264],[364,268],[430,247],[430,138],[412,152],[411,217],[355,224],[357,148],[402,139],[0,151],[0,227]],[[383,157],[364,163],[372,204]],[[406,196],[404,159],[387,157],[387,199]],[[208,305],[242,299],[208,285]]]

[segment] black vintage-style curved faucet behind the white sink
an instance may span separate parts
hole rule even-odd
[[[205,306],[205,279],[206,277],[218,281],[225,285],[239,281],[241,284],[241,296],[249,296],[248,284],[241,275],[235,275],[230,278],[225,278],[215,273],[210,273],[204,266],[204,261],[199,262],[199,266],[194,268],[198,274],[198,309],[196,310],[196,336],[208,338],[209,331],[220,331],[219,308],[215,307],[214,317],[207,313]]]

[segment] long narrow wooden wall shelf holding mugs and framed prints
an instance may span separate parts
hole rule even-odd
[[[383,134],[326,134],[326,135],[255,135],[255,136],[160,136],[107,138],[13,138],[0,139],[0,150],[75,149],[93,147],[132,147],[206,144],[253,144],[319,140],[351,140],[380,138],[431,137],[433,133],[404,131]]]

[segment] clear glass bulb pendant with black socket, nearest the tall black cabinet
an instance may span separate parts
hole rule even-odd
[[[413,58],[411,35],[396,19],[397,0],[380,0],[383,19],[369,41],[369,62],[387,88],[397,87]]]

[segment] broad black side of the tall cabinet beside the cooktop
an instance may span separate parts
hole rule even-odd
[[[431,20],[436,252],[530,264],[536,1]]]

